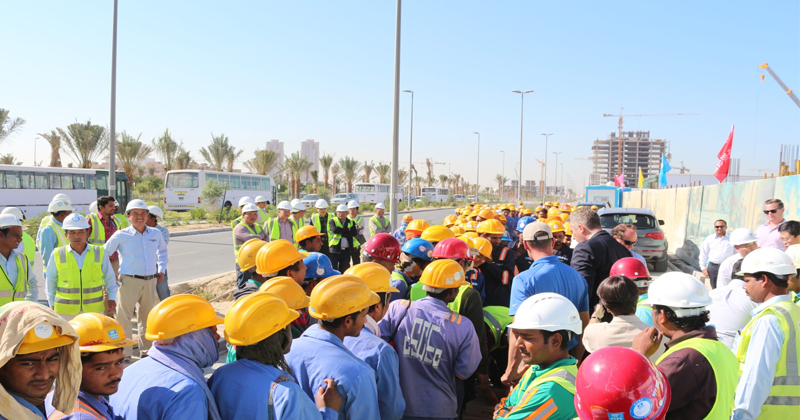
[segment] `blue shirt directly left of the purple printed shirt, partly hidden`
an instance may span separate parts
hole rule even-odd
[[[344,345],[375,371],[381,420],[400,420],[406,409],[406,401],[400,390],[397,352],[367,327],[361,330],[358,337],[345,337]]]

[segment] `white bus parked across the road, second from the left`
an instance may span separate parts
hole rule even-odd
[[[203,186],[209,180],[227,185],[228,189],[220,202],[226,207],[236,207],[244,196],[255,199],[259,195],[266,196],[270,204],[276,204],[278,190],[269,176],[185,169],[167,172],[164,208],[184,211],[199,206]]]

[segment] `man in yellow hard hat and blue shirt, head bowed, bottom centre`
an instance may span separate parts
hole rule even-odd
[[[379,419],[375,372],[344,345],[358,337],[367,311],[380,301],[356,276],[326,279],[311,292],[309,314],[319,320],[294,341],[286,362],[297,383],[313,397],[325,379],[333,379],[343,395],[341,419]],[[324,355],[324,357],[320,357]]]

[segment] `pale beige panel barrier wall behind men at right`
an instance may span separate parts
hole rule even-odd
[[[700,245],[714,233],[714,221],[724,219],[728,232],[755,229],[766,222],[764,201],[783,200],[784,217],[800,220],[800,175],[718,185],[638,190],[623,193],[625,207],[646,208],[664,221],[669,252],[699,269]]]

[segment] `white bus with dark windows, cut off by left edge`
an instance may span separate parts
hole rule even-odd
[[[97,197],[108,195],[108,170],[0,165],[0,208],[17,207],[25,217],[35,217],[46,212],[59,193],[68,195],[72,206],[86,214]],[[124,211],[130,199],[125,172],[117,172],[114,198]]]

